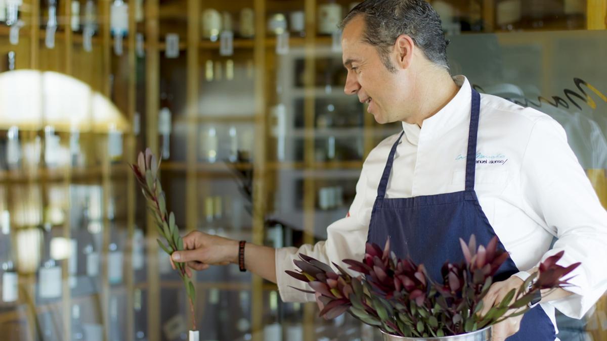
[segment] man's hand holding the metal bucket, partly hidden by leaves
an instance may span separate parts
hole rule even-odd
[[[483,310],[480,312],[481,316],[486,315],[493,306],[500,304],[510,290],[515,289],[518,291],[521,285],[523,285],[523,280],[517,276],[511,276],[509,279],[502,282],[493,283],[489,288],[489,292],[487,292],[487,295],[485,295],[483,299]],[[515,311],[507,312],[506,316],[514,312]],[[492,340],[504,341],[507,337],[517,333],[521,326],[522,319],[523,315],[509,317],[508,319],[493,325]]]

